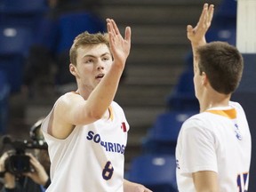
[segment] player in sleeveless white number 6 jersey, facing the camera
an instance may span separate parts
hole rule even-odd
[[[76,36],[69,70],[77,90],[60,96],[44,119],[52,180],[47,192],[150,192],[124,180],[129,124],[113,101],[130,53],[131,28],[123,38],[114,20],[107,25],[108,35]]]

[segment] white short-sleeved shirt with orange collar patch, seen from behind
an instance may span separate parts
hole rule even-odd
[[[217,172],[221,192],[247,191],[251,145],[244,109],[238,103],[230,101],[228,108],[210,108],[190,117],[176,147],[179,191],[196,191],[192,173],[199,171]]]

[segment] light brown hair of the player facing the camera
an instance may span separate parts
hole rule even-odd
[[[69,51],[70,62],[76,66],[77,49],[81,46],[90,46],[94,44],[107,44],[109,48],[108,34],[89,34],[87,31],[76,36],[73,45]]]

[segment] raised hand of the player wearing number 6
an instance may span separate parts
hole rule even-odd
[[[120,34],[114,20],[107,19],[110,50],[114,61],[118,64],[125,64],[131,49],[131,28],[125,28],[124,37]]]

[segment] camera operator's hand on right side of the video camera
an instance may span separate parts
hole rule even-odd
[[[37,184],[44,186],[49,179],[47,172],[44,170],[44,166],[39,163],[35,156],[32,156],[31,154],[27,155],[30,156],[30,164],[33,166],[34,171],[26,172],[24,175],[31,178],[31,180],[34,180]]]

